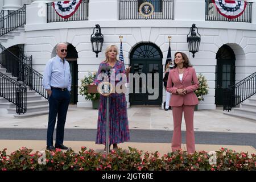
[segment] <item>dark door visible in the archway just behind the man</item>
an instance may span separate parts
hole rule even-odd
[[[77,80],[78,80],[78,69],[77,69],[77,61],[68,61],[70,72],[72,76],[71,81],[71,98],[70,104],[77,104]]]

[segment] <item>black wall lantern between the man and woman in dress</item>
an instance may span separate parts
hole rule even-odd
[[[94,34],[95,28],[97,28],[97,30]],[[92,43],[92,49],[93,52],[96,53],[96,57],[98,57],[98,53],[102,50],[103,41],[104,36],[101,34],[101,27],[99,24],[96,24],[96,27],[93,28],[92,35],[90,35],[90,42]]]

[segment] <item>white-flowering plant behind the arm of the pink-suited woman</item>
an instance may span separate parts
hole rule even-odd
[[[209,91],[207,79],[205,78],[205,76],[203,76],[202,73],[197,75],[197,79],[199,81],[199,88],[195,91],[196,97],[199,101],[204,101],[204,96],[207,95]],[[197,110],[197,105],[195,107],[195,110]]]

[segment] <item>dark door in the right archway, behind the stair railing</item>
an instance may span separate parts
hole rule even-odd
[[[234,60],[217,60],[215,104],[223,105],[223,89],[235,84],[235,64]]]

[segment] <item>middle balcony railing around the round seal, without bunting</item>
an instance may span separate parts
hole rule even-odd
[[[144,2],[154,6],[154,12],[147,17],[139,13]],[[119,0],[119,19],[174,19],[174,0]]]

